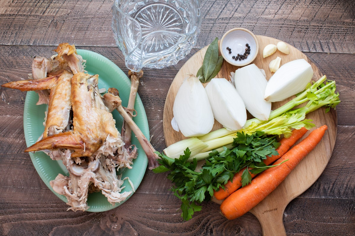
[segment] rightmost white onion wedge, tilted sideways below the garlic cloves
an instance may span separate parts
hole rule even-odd
[[[312,66],[305,59],[297,59],[282,65],[269,79],[265,88],[265,100],[282,101],[305,90],[313,77]]]

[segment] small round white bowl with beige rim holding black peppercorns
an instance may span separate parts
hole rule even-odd
[[[246,52],[246,44],[250,46],[250,54],[246,55],[246,59],[239,60],[238,58],[235,60],[238,53],[243,55]],[[227,49],[227,47],[229,49]],[[251,31],[244,28],[234,28],[228,30],[223,35],[219,43],[219,51],[221,52],[226,62],[238,67],[242,67],[254,61],[259,51],[259,44],[255,35],[251,33]],[[233,56],[235,58],[233,58]]]

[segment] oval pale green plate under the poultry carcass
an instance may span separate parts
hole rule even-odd
[[[77,53],[86,60],[85,69],[89,74],[99,74],[99,88],[117,88],[120,92],[122,105],[127,106],[131,82],[125,73],[109,59],[98,53],[79,49],[77,50]],[[47,105],[35,105],[37,101],[37,93],[33,91],[27,92],[23,111],[23,128],[27,146],[34,144],[44,131],[44,112],[47,110]],[[135,102],[135,110],[137,111],[137,116],[133,117],[133,120],[136,122],[138,127],[140,127],[143,134],[146,137],[149,137],[146,112],[138,95]],[[112,114],[116,120],[117,129],[121,131],[123,121],[122,117],[119,115],[118,111],[114,111]],[[146,154],[142,150],[141,145],[134,135],[132,135],[132,144],[135,144],[138,148],[138,157],[133,161],[132,169],[125,169],[122,178],[129,177],[133,183],[134,188],[137,189],[143,179],[148,161]],[[49,182],[50,180],[55,179],[59,173],[68,175],[68,171],[66,170],[65,166],[61,161],[54,161],[50,159],[50,157],[42,151],[35,153],[30,152],[29,155],[40,178],[48,186],[48,188],[54,192]],[[126,187],[123,189],[123,191],[132,190],[131,185],[127,180],[125,180],[124,185]],[[65,196],[56,192],[54,192],[54,194],[64,202],[67,202]],[[88,206],[90,207],[87,210],[89,212],[107,211],[118,207],[123,203],[116,203],[114,206],[112,206],[101,192],[89,194],[87,202]]]

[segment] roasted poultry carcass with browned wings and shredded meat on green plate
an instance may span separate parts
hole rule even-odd
[[[87,210],[90,191],[101,191],[113,205],[124,201],[132,192],[122,191],[116,171],[132,168],[137,149],[124,147],[111,114],[122,108],[121,99],[118,93],[100,95],[98,75],[85,73],[74,45],[60,44],[54,51],[58,54],[51,58],[34,58],[32,79],[2,85],[36,91],[37,104],[48,104],[44,132],[25,151],[42,150],[63,162],[69,176],[58,174],[50,185],[66,196],[69,209]]]

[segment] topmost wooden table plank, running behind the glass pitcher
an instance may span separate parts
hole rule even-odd
[[[0,44],[115,46],[111,4],[100,1],[9,1],[0,8]],[[196,48],[242,27],[283,40],[302,52],[355,52],[351,0],[204,0]],[[40,36],[40,37],[39,37]]]

